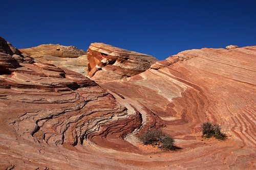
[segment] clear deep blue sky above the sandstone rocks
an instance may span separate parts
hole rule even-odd
[[[256,45],[256,1],[3,1],[0,36],[17,48],[104,42],[153,55]]]

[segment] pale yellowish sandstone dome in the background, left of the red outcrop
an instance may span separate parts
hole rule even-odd
[[[70,69],[86,76],[88,60],[86,52],[78,50],[75,46],[59,44],[42,44],[39,46],[19,49],[30,55],[36,61],[56,65],[60,68]]]

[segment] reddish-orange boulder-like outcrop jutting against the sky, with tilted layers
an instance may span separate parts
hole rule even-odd
[[[153,56],[104,43],[91,43],[87,56],[88,77],[97,82],[121,80],[137,75],[157,61]]]

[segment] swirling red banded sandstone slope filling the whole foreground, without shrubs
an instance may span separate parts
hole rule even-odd
[[[101,87],[51,64],[0,62],[0,169],[253,169],[255,57],[256,46],[184,51],[123,81],[103,72]],[[206,120],[228,139],[202,139]],[[151,127],[182,149],[142,145]]]

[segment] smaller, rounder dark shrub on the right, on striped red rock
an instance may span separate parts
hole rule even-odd
[[[215,137],[216,139],[225,140],[227,135],[221,132],[221,127],[218,124],[205,122],[201,125],[202,136],[206,138]]]

